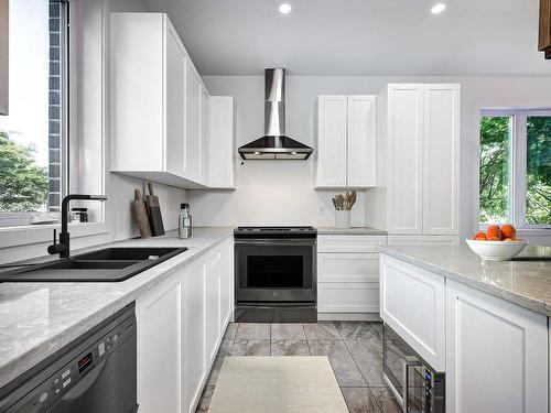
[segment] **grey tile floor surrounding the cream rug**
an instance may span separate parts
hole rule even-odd
[[[225,356],[327,356],[350,412],[399,413],[401,410],[382,380],[381,335],[381,323],[231,323],[197,412],[208,412]]]

